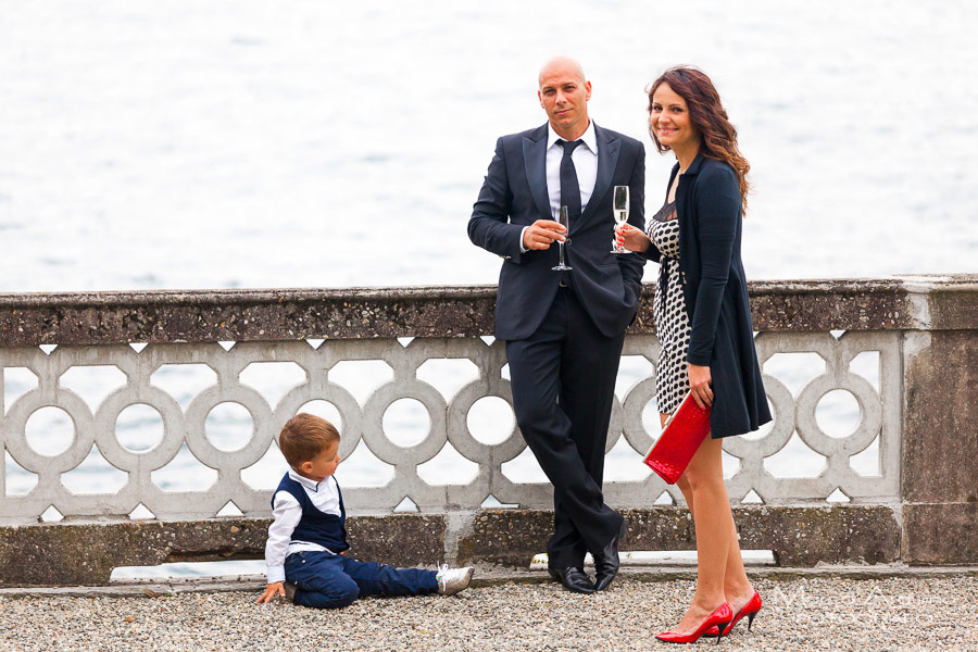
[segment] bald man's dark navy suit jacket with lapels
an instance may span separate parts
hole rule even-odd
[[[572,217],[564,256],[573,288],[598,329],[616,337],[635,318],[644,260],[613,254],[612,188],[629,186],[628,222],[644,228],[645,150],[642,143],[594,125],[598,178],[579,218]],[[556,294],[561,273],[557,244],[521,252],[523,227],[553,220],[547,192],[547,125],[503,136],[468,221],[472,241],[505,260],[499,274],[496,337],[525,339],[534,334]]]

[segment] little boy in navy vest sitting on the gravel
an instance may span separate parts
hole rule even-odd
[[[281,429],[278,443],[291,469],[272,497],[268,586],[258,602],[280,595],[303,606],[338,609],[363,595],[452,595],[467,588],[472,567],[400,569],[343,554],[347,512],[333,477],[339,439],[333,424],[311,414],[297,414]]]

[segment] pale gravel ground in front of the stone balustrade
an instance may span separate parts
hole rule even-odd
[[[762,579],[764,610],[727,650],[978,650],[978,577]],[[341,611],[258,593],[156,598],[0,598],[0,650],[672,650],[652,635],[677,623],[693,582],[620,579],[577,595],[556,584],[505,584],[439,595],[365,599]],[[706,650],[702,639],[686,649]],[[681,648],[675,648],[681,649]]]

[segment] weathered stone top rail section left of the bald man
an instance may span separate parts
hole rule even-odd
[[[0,346],[478,337],[494,305],[493,287],[0,294]]]

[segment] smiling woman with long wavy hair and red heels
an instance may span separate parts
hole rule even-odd
[[[649,131],[660,153],[672,151],[677,163],[648,231],[626,224],[618,241],[660,263],[653,313],[663,425],[687,393],[711,406],[711,437],[677,482],[695,525],[697,590],[678,626],[656,636],[685,643],[725,636],[744,616],[750,628],[761,610],[743,568],[720,452],[724,437],[756,430],[770,411],[740,260],[750,164],[705,74],[674,67],[648,91]]]

